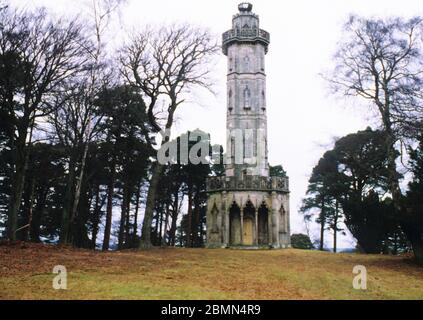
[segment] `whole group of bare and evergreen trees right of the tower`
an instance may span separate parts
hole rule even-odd
[[[379,128],[338,139],[313,169],[302,211],[320,223],[321,250],[331,229],[336,251],[342,221],[362,251],[412,248],[423,263],[422,21],[351,16],[345,24],[328,81],[361,99]]]

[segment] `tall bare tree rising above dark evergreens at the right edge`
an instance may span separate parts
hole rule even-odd
[[[330,79],[338,93],[364,98],[378,114],[386,135],[389,190],[398,212],[403,208],[396,146],[399,141],[416,138],[423,128],[422,40],[420,17],[382,20],[351,16]],[[413,248],[421,245],[414,242]]]

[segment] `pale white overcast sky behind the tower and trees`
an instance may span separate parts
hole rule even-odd
[[[12,5],[43,5],[59,14],[78,13],[87,0],[12,0]],[[129,0],[121,12],[123,29],[146,24],[189,22],[211,29],[219,37],[231,28],[240,0]],[[261,28],[270,32],[266,57],[269,160],[282,164],[290,177],[291,229],[304,232],[298,209],[313,166],[341,137],[372,124],[358,104],[333,99],[319,73],[332,66],[331,57],[350,13],[365,16],[423,15],[420,0],[256,0],[253,12]],[[114,41],[123,30],[113,30]],[[178,113],[177,131],[200,128],[213,143],[224,145],[226,123],[226,57],[216,67],[217,96],[198,94]],[[328,235],[329,236],[329,235]],[[331,239],[327,239],[331,246]],[[341,237],[340,247],[351,246]]]

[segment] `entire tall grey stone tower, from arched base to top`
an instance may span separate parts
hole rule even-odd
[[[225,175],[207,180],[207,246],[290,246],[288,177],[270,176],[265,55],[269,33],[241,3],[222,37],[228,58]]]

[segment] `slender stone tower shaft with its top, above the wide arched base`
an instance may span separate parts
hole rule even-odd
[[[265,55],[269,33],[243,2],[222,35],[228,57],[227,176],[268,176]]]

